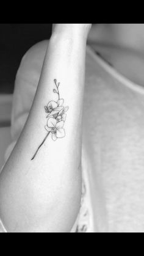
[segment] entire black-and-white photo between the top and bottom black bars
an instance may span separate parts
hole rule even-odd
[[[0,232],[144,232],[144,24],[0,24]]]

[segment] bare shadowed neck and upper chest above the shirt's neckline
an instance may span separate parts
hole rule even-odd
[[[144,24],[93,24],[88,45],[121,75],[144,85]]]

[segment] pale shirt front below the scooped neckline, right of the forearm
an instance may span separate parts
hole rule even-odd
[[[143,87],[88,53],[82,140],[87,213],[93,218],[88,231],[143,230],[143,99]]]

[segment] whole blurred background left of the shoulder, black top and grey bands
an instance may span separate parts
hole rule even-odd
[[[51,37],[52,24],[0,24],[0,169],[11,142],[10,117],[16,71],[26,51]]]

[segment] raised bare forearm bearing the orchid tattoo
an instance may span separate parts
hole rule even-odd
[[[8,232],[67,232],[76,220],[89,29],[54,27],[29,117],[0,176],[0,216]]]

